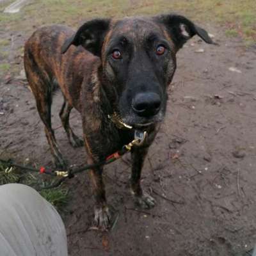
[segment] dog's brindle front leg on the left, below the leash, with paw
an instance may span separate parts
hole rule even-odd
[[[93,164],[92,159],[88,164]],[[90,170],[93,195],[95,197],[94,221],[95,225],[102,230],[107,230],[111,223],[111,211],[106,202],[105,186],[102,179],[103,167]]]

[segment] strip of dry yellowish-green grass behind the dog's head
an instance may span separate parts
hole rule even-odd
[[[31,31],[43,24],[78,26],[83,20],[93,17],[163,12],[179,12],[198,22],[216,22],[230,31],[227,35],[241,35],[245,40],[256,41],[255,0],[44,0],[34,1],[20,13],[1,13],[0,22],[6,29]]]

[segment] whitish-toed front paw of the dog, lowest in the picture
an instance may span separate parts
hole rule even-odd
[[[96,206],[94,209],[94,224],[100,230],[105,231],[111,228],[112,212],[108,206]]]

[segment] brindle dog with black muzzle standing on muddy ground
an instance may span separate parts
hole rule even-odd
[[[66,26],[40,28],[25,45],[24,65],[35,95],[54,163],[65,161],[51,127],[52,92],[64,96],[60,118],[73,147],[83,145],[88,163],[97,163],[134,139],[134,129],[147,131],[141,147],[133,147],[131,190],[142,207],[153,207],[152,196],[140,185],[141,168],[163,121],[166,88],[176,68],[175,54],[194,35],[213,44],[207,32],[180,15],[95,19],[76,32]],[[70,128],[72,108],[81,113],[83,141]],[[134,129],[118,129],[108,115],[118,113]],[[95,195],[95,221],[108,228],[111,211],[106,203],[102,167],[90,171]]]

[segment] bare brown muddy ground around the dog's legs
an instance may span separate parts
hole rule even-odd
[[[221,28],[205,27],[220,46],[194,38],[179,52],[166,119],[143,170],[143,187],[156,198],[156,207],[143,211],[134,205],[126,156],[126,163],[105,168],[109,204],[119,215],[113,230],[102,234],[90,230],[88,175],[68,180],[71,200],[64,220],[70,256],[251,255],[256,243],[256,48],[226,38]],[[12,40],[9,61],[21,69],[17,49],[28,35],[0,33]],[[0,154],[51,166],[44,127],[22,76],[1,77]],[[58,93],[53,127],[63,155],[79,166],[86,155],[84,148],[68,144],[58,117],[61,103]],[[75,110],[71,118],[81,135]]]

